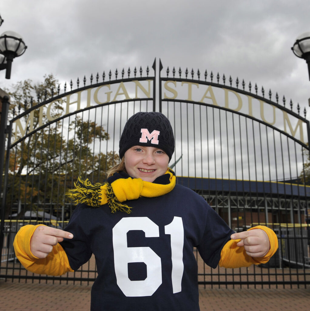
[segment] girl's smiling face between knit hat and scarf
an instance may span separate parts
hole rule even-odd
[[[155,147],[133,146],[125,152],[125,168],[133,178],[153,182],[166,173],[169,156]]]

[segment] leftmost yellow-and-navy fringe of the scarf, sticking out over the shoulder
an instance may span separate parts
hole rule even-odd
[[[66,195],[70,197],[75,204],[85,203],[91,207],[98,207],[99,196],[101,195],[101,183],[92,184],[88,178],[82,180],[79,176],[74,186],[75,189],[70,189]]]

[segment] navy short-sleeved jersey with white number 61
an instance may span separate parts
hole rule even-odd
[[[74,235],[61,243],[73,270],[96,258],[91,310],[199,310],[193,248],[215,268],[233,231],[181,185],[125,203],[130,214],[80,204],[65,229]]]

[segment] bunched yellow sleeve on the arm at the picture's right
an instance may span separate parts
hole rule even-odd
[[[237,246],[236,244],[240,241],[238,240],[229,240],[221,251],[221,259],[219,262],[220,267],[225,268],[240,268],[240,267],[249,267],[252,264],[259,265],[261,263],[266,263],[268,260],[276,253],[278,249],[278,238],[273,230],[265,226],[256,226],[250,228],[253,229],[262,229],[264,230],[269,238],[270,250],[264,257],[253,258],[245,252],[243,246]]]

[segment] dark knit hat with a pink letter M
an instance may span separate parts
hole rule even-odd
[[[169,120],[160,112],[138,112],[128,119],[120,139],[120,158],[132,146],[157,147],[171,160],[174,137]]]

